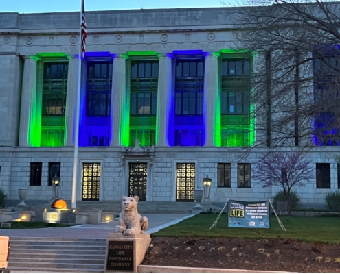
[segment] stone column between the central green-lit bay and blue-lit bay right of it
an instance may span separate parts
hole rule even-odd
[[[159,55],[158,71],[158,90],[157,90],[157,146],[169,146],[168,132],[173,128],[170,125],[172,117],[170,111],[172,108],[172,57],[171,53]],[[173,123],[173,122],[172,122]]]

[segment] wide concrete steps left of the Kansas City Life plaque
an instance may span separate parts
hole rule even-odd
[[[10,271],[104,272],[105,239],[10,237]]]

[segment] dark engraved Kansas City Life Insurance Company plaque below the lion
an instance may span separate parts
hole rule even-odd
[[[133,241],[109,240],[105,271],[133,272]]]

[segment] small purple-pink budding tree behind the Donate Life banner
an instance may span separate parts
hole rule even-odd
[[[291,189],[293,186],[304,187],[315,174],[310,162],[297,152],[272,152],[260,159],[253,179],[263,188],[280,186],[288,202],[288,214],[291,214]]]

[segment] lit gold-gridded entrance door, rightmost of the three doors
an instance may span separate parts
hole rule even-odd
[[[176,201],[194,201],[195,164],[177,164],[176,171]]]

